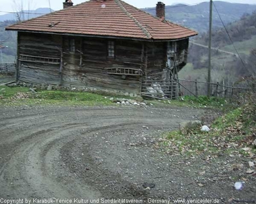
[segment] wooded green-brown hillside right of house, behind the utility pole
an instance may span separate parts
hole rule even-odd
[[[243,15],[241,20],[228,24],[226,28],[227,31],[223,27],[212,32],[212,47],[218,48],[212,51],[212,80],[221,82],[224,78],[231,85],[242,77],[256,74],[256,11],[252,15]],[[207,45],[209,35],[202,34],[193,41]],[[234,54],[227,54],[221,50]],[[180,76],[205,80],[208,66],[207,52],[207,48],[191,43],[189,63],[182,69]]]

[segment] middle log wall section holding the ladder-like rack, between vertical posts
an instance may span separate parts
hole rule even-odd
[[[70,50],[74,41],[75,52]],[[109,41],[114,42],[115,57],[108,56]],[[63,85],[138,94],[141,76],[128,69],[142,68],[141,47],[140,41],[64,37]],[[127,74],[122,74],[124,68]]]

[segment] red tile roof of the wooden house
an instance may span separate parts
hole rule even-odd
[[[153,17],[120,0],[90,0],[42,17],[10,25],[6,30],[82,34],[145,40],[178,40],[197,33]]]

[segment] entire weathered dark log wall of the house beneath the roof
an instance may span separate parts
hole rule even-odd
[[[109,56],[109,41],[115,56]],[[31,84],[140,94],[142,82],[170,79],[166,71],[167,47],[167,42],[19,32],[17,77]],[[181,69],[188,56],[188,39],[177,41],[176,51]]]

